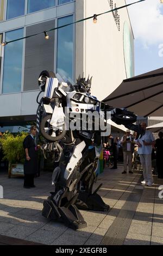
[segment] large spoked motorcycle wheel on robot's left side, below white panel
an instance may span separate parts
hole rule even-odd
[[[64,138],[66,135],[66,126],[65,123],[59,127],[59,129],[51,125],[52,114],[44,117],[40,124],[40,131],[43,137],[48,141],[56,142]]]

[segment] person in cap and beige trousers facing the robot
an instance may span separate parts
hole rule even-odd
[[[127,173],[127,163],[129,173],[133,174],[132,172],[132,160],[133,160],[133,153],[134,153],[134,136],[130,134],[131,131],[127,130],[126,135],[124,135],[121,139],[122,149],[123,149],[123,166],[124,170],[122,174]]]

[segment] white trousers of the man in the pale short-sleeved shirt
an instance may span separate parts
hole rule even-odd
[[[153,183],[151,154],[139,155],[145,181]]]

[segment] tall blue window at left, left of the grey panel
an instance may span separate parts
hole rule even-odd
[[[5,41],[23,37],[24,29],[5,33]],[[4,48],[2,93],[21,92],[23,40],[11,42]]]

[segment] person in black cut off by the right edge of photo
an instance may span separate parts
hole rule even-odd
[[[159,132],[159,139],[156,139],[155,147],[158,178],[163,179],[163,132]]]

